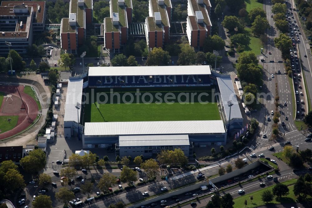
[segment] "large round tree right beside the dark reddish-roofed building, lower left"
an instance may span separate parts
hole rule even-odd
[[[20,164],[25,171],[36,173],[46,166],[46,154],[41,149],[32,150],[20,160]]]

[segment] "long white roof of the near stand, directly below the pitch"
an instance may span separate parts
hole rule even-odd
[[[77,111],[77,110],[76,110]],[[225,133],[222,120],[85,123],[85,136]]]

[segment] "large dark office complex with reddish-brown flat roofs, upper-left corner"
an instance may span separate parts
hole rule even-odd
[[[0,6],[0,55],[6,55],[9,48],[19,54],[27,53],[32,44],[32,32],[43,31],[46,20],[44,1],[2,1]]]

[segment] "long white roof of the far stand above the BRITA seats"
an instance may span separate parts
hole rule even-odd
[[[147,67],[89,67],[94,76],[153,76],[153,75],[211,74],[210,65],[200,66],[147,66]]]

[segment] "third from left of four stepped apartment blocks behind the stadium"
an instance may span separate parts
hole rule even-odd
[[[171,9],[170,0],[149,0],[149,17],[145,19],[145,35],[150,49],[163,47],[163,44],[169,41]]]

